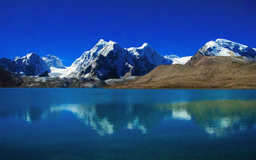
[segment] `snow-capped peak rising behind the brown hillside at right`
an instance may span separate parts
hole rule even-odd
[[[198,51],[203,55],[244,56],[252,58],[256,56],[255,49],[224,39],[209,41]]]

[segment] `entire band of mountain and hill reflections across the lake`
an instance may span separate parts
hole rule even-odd
[[[20,115],[20,112],[15,115]],[[95,105],[63,104],[45,108],[26,108],[23,119],[29,123],[51,120],[61,112],[72,112],[85,126],[100,136],[112,135],[120,129],[136,129],[147,134],[148,128],[165,122],[195,121],[210,138],[255,129],[256,101],[221,100],[188,103],[125,104],[99,103]],[[175,121],[173,121],[175,120]]]

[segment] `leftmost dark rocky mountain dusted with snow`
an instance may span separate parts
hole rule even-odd
[[[50,71],[50,66],[46,64],[39,55],[35,53],[27,54],[24,57],[15,57],[13,61],[2,58],[0,66],[21,75],[35,76],[45,71]]]

